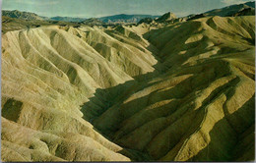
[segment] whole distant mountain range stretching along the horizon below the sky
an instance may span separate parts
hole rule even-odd
[[[221,16],[221,17],[233,17],[233,16],[244,16],[244,15],[255,15],[255,1],[246,2],[244,4],[237,4],[224,7],[222,9],[215,9],[202,13],[199,15],[189,15],[184,17],[185,20],[194,20],[202,17],[208,16]],[[162,16],[152,16],[152,15],[114,15],[100,18],[73,18],[73,17],[41,17],[34,13],[30,12],[21,12],[18,10],[13,11],[2,11],[2,16],[16,18],[21,20],[37,20],[37,21],[61,21],[61,22],[70,22],[70,23],[82,23],[82,24],[115,24],[115,23],[143,23],[143,22],[169,22],[173,19],[176,19],[175,15],[172,13],[166,13]],[[88,20],[88,21],[87,21]]]

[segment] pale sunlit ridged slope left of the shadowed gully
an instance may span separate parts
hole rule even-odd
[[[137,49],[99,29],[89,29],[37,27],[3,35],[2,160],[129,160],[116,153],[121,147],[82,118],[80,105],[94,96],[96,88],[154,71],[157,60],[146,46]],[[89,44],[94,40],[89,35],[104,39],[98,38],[103,52]],[[133,51],[138,51],[137,57],[131,57]],[[116,57],[103,56],[111,54]],[[100,98],[91,109],[104,105]]]

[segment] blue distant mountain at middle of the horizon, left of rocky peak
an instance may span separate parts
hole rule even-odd
[[[144,18],[152,18],[156,19],[160,16],[152,16],[152,15],[126,15],[126,14],[120,14],[120,15],[114,15],[114,16],[108,16],[108,17],[101,17],[99,18],[100,21],[103,23],[138,23]]]

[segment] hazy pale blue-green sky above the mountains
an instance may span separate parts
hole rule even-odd
[[[3,10],[20,10],[40,16],[92,18],[116,14],[176,16],[198,14],[248,0],[2,0]]]

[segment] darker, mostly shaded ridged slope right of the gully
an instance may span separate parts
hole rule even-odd
[[[253,160],[254,19],[212,17],[146,33],[165,73],[127,90],[96,129],[153,160]]]

